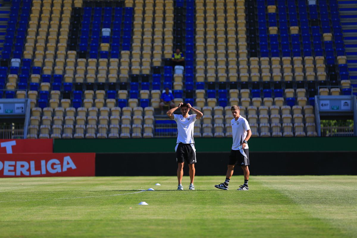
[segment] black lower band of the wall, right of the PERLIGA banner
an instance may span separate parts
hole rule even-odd
[[[228,152],[198,152],[196,175],[227,171]],[[98,153],[96,176],[175,176],[175,153]],[[356,152],[252,152],[251,175],[357,175]],[[188,176],[188,166],[184,168]],[[236,175],[243,174],[239,166]]]

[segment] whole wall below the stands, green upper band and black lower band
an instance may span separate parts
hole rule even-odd
[[[232,138],[196,138],[196,175],[226,173]],[[173,176],[175,138],[54,140],[54,152],[95,152],[96,176]],[[357,137],[252,138],[251,175],[357,175]],[[185,174],[188,168],[185,166]],[[236,174],[242,174],[240,168]]]

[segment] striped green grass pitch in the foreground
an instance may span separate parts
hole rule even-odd
[[[2,178],[0,237],[357,237],[357,176],[223,179]]]

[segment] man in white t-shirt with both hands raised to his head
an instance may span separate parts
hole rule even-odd
[[[180,108],[182,115],[174,114],[177,108]],[[196,114],[188,115],[188,112],[192,110]],[[203,113],[193,108],[190,103],[178,104],[177,107],[172,108],[166,112],[166,115],[169,116],[172,120],[175,120],[177,123],[177,141],[176,141],[176,161],[177,161],[177,180],[178,186],[177,190],[183,190],[181,181],[183,176],[183,164],[188,163],[190,171],[191,183],[188,187],[190,190],[195,190],[193,186],[193,179],[195,178],[195,163],[196,161],[196,149],[195,141],[193,140],[193,127],[195,121],[200,119],[203,116]]]

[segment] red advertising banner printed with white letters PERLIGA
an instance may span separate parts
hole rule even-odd
[[[95,176],[95,153],[0,154],[0,177]]]

